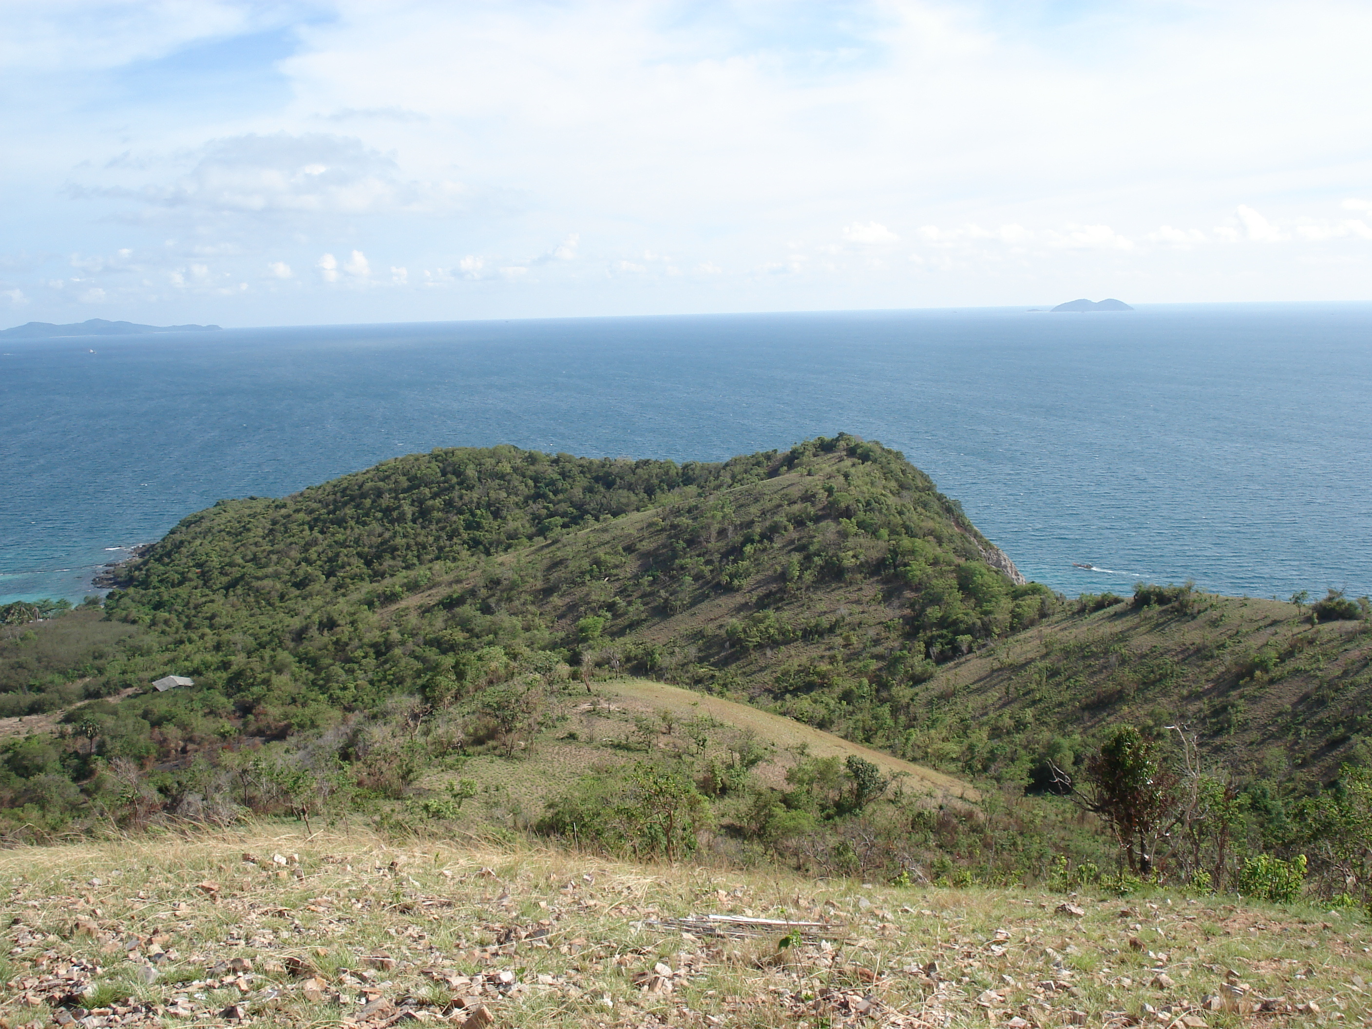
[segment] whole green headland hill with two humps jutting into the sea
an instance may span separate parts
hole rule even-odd
[[[110,689],[176,665],[294,719],[502,646],[746,690],[775,671],[759,648],[855,634],[900,678],[1040,616],[1051,594],[986,560],[1018,578],[926,475],[853,436],[685,465],[439,450],[182,521],[110,598],[165,648]]]

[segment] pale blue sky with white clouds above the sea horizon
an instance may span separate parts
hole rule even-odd
[[[1372,300],[1365,0],[0,16],[0,325]]]

